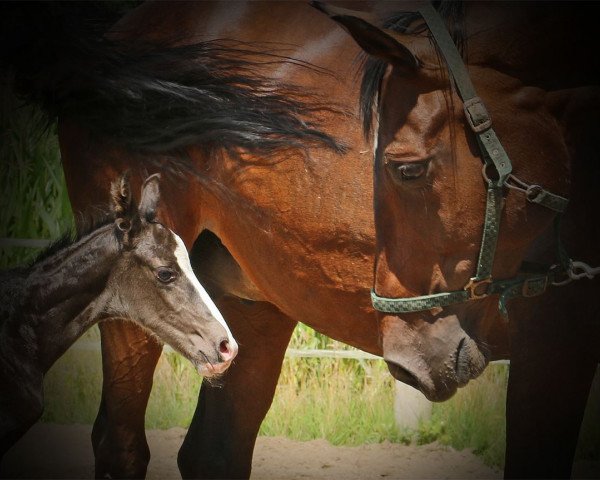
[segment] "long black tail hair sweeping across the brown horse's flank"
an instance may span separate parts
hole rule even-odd
[[[343,149],[313,120],[333,110],[323,99],[259,73],[261,65],[285,62],[324,73],[309,64],[231,40],[172,46],[173,39],[108,39],[101,34],[108,26],[86,23],[68,2],[8,10],[9,27],[15,17],[19,28],[35,25],[6,39],[0,52],[17,89],[102,140],[150,154],[192,145],[263,155]]]

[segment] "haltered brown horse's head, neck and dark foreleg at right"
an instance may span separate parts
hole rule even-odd
[[[600,360],[593,13],[442,4],[445,20],[424,7],[380,28],[320,8],[376,59],[363,106],[378,126],[373,301],[390,371],[448,398],[487,364],[499,306],[515,297],[506,475],[569,476]]]

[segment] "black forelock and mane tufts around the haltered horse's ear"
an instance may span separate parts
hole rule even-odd
[[[461,54],[464,54],[466,36],[464,31],[464,4],[459,0],[441,0],[434,2],[436,10],[447,22],[450,35]],[[390,15],[382,21],[382,27],[404,35],[427,35],[429,29],[418,12],[402,11]],[[434,42],[435,44],[435,42]],[[437,48],[437,44],[436,48]],[[360,114],[363,132],[369,138],[373,128],[373,108],[378,101],[379,88],[385,74],[387,63],[365,54],[363,76],[360,87]]]

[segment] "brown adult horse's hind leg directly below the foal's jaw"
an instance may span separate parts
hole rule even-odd
[[[162,346],[132,323],[100,324],[104,381],[92,431],[96,478],[144,478],[144,416]]]

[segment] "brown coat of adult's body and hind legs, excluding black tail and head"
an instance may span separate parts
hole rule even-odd
[[[150,3],[123,25],[135,36],[168,38],[176,32],[194,41],[263,42],[331,74],[279,61],[261,66],[262,75],[315,91],[350,112],[323,120],[328,133],[348,144],[345,155],[325,148],[312,148],[308,156],[283,149],[273,161],[210,157],[189,148],[202,179],[169,181],[163,175],[164,205],[177,208],[164,208],[159,218],[192,249],[196,272],[203,284],[212,285],[240,345],[222,385],[203,385],[179,466],[184,477],[244,478],[296,322],[381,354],[369,299],[373,152],[355,113],[353,62],[359,49],[303,3]],[[61,120],[60,141],[75,211],[104,198],[115,172],[129,168],[135,178],[146,168],[124,151],[100,148],[68,118]],[[206,231],[226,250],[214,236],[201,235]],[[101,333],[104,385],[93,432],[96,474],[140,477],[149,459],[144,412],[161,347],[130,324],[104,323]]]

